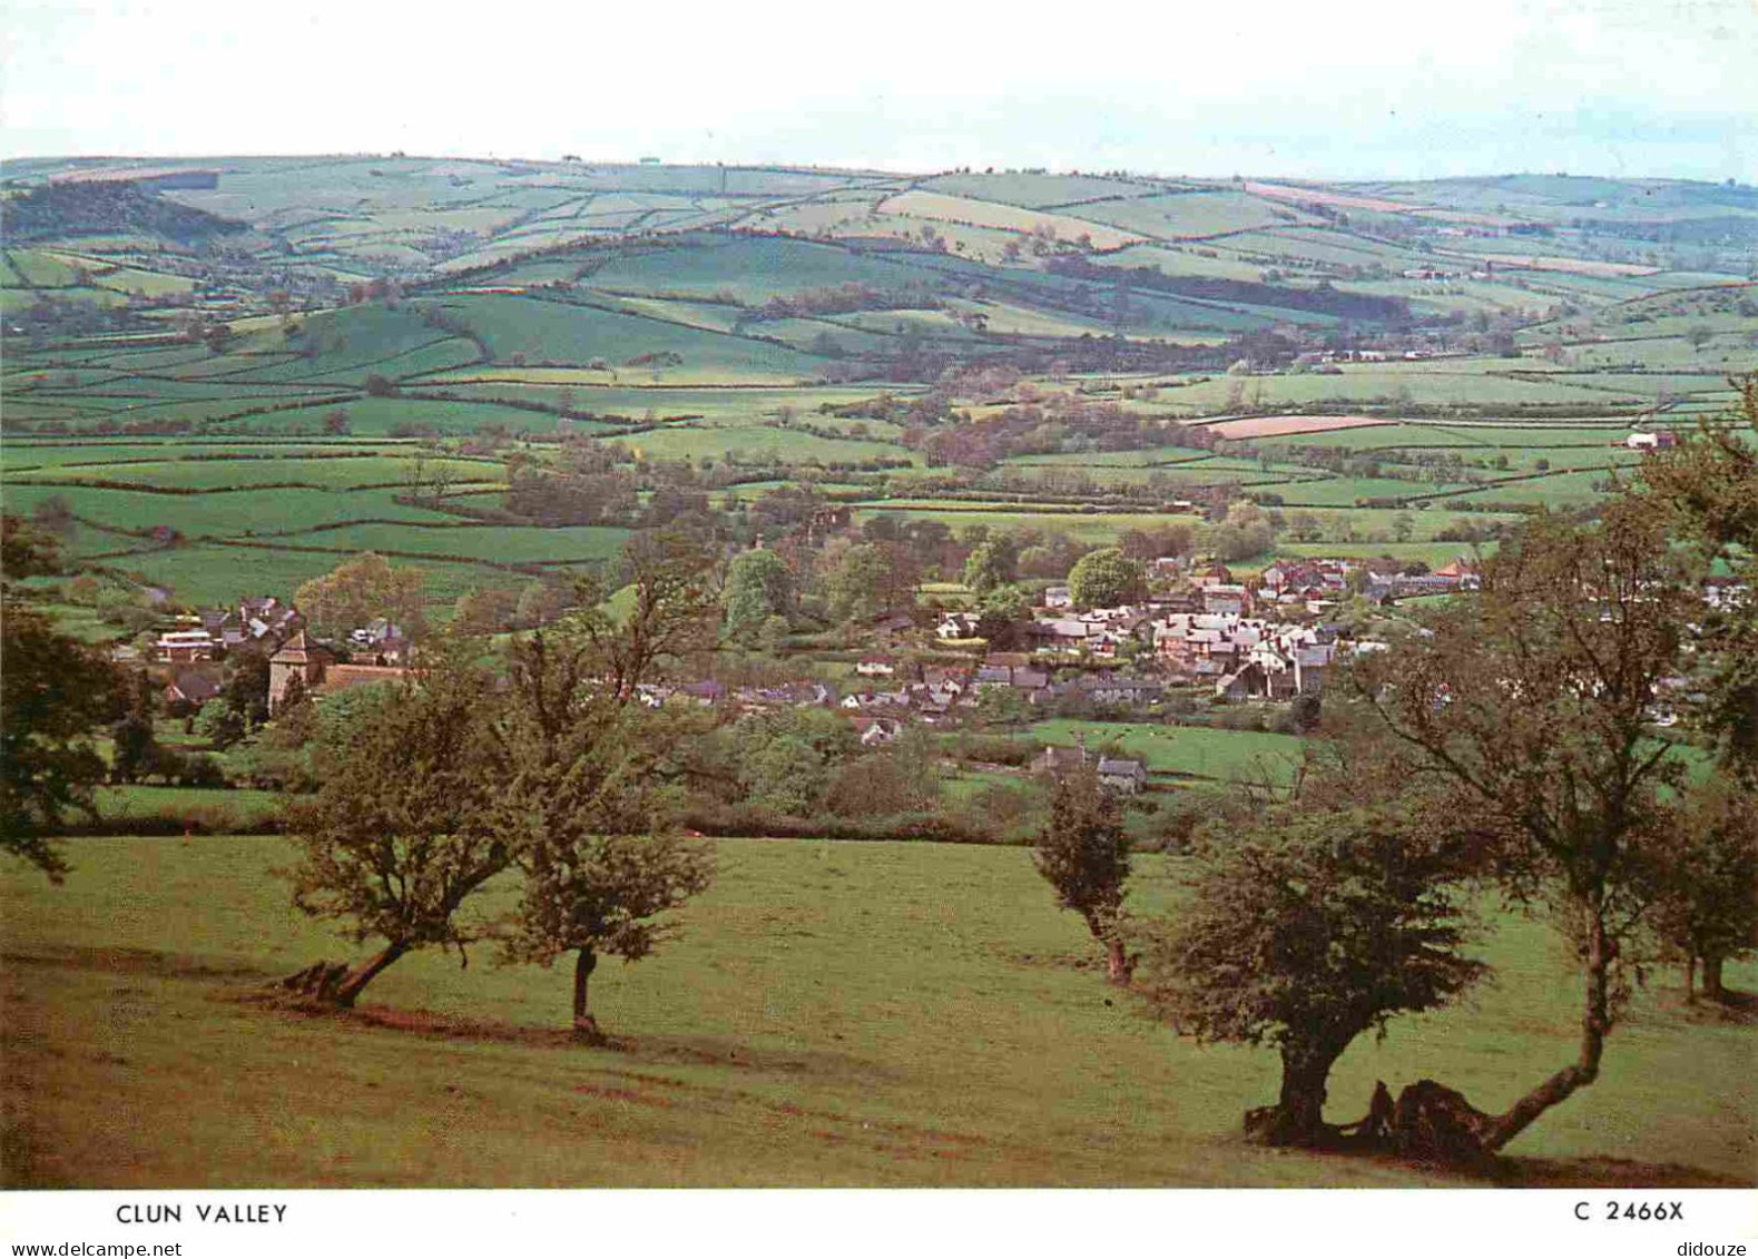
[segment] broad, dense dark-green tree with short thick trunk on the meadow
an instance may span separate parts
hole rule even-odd
[[[1336,1143],[1343,1129],[1326,1124],[1324,1103],[1343,1052],[1484,972],[1461,953],[1463,851],[1396,800],[1303,798],[1243,830],[1206,828],[1190,900],[1153,937],[1146,986],[1197,1041],[1276,1050],[1280,1095],[1246,1113],[1252,1138]],[[1371,1127],[1385,1118],[1375,1113]]]

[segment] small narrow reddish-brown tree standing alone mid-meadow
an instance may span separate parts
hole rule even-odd
[[[1078,913],[1104,946],[1106,978],[1129,983],[1134,969],[1123,946],[1129,837],[1116,797],[1092,765],[1065,774],[1051,788],[1050,821],[1037,837],[1032,860],[1057,890],[1057,904]]]

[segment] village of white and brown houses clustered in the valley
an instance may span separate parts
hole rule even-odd
[[[791,679],[735,682],[714,670],[675,670],[642,682],[649,707],[712,709],[719,719],[782,709],[837,714],[861,749],[886,747],[905,730],[958,731],[992,724],[1030,731],[1034,721],[1076,716],[1109,721],[1197,723],[1208,712],[1245,705],[1253,724],[1287,703],[1317,702],[1333,663],[1384,647],[1378,624],[1403,600],[1477,587],[1477,564],[1461,556],[1427,571],[1396,561],[1276,561],[1234,571],[1220,561],[1166,556],[1143,564],[1144,598],[1118,607],[1079,607],[1067,584],[1041,584],[1037,605],[1020,621],[981,624],[976,612],[949,610],[942,596],[919,596],[914,614],[891,614],[851,630],[851,651],[789,654]],[[956,600],[956,594],[953,596]],[[1333,619],[1345,603],[1355,612]],[[1368,619],[1362,608],[1373,608]],[[225,705],[227,679],[267,661],[264,716],[294,698],[322,698],[418,673],[418,649],[385,617],[320,638],[283,596],[244,596],[230,607],[185,614],[141,645],[114,651],[146,670],[163,712],[192,723],[207,703]],[[988,628],[1011,644],[992,651]],[[712,658],[710,658],[712,659]],[[1000,721],[993,721],[995,716]],[[1266,716],[1268,714],[1268,716]],[[1315,717],[1313,717],[1315,721]],[[1023,774],[1051,775],[1088,760],[1081,746],[1046,744]],[[1101,779],[1134,795],[1150,767],[1123,754],[1092,754]]]

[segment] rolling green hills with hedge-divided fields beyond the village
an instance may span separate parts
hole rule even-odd
[[[1726,185],[237,156],[14,164],[0,211],[9,506],[62,499],[76,554],[179,598],[346,545],[436,591],[599,557],[411,528],[498,519],[508,454],[561,443],[643,492],[682,461],[833,478],[860,520],[1109,540],[1220,491],[1318,519],[1306,549],[1391,547],[1398,506],[1442,545],[1593,503],[1631,426],[1758,366],[1758,202]],[[1190,448],[1266,413],[1396,424]]]

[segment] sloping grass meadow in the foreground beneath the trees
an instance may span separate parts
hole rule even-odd
[[[248,1001],[359,950],[288,907],[285,841],[90,839],[0,877],[9,1187],[1447,1185],[1246,1146],[1268,1050],[1199,1048],[1109,988],[1018,848],[721,841],[684,935],[605,965],[614,1050],[570,1044],[563,969],[411,957],[353,1016]],[[1176,902],[1176,858],[1132,906]],[[505,895],[505,890],[503,890]],[[503,902],[505,904],[505,902]],[[1545,927],[1493,916],[1498,976],[1357,1043],[1333,1118],[1422,1076],[1503,1108],[1575,1052]],[[1735,988],[1758,967],[1730,967]],[[1751,1027],[1649,976],[1593,1087],[1521,1138],[1514,1183],[1758,1182]]]

